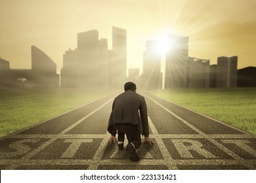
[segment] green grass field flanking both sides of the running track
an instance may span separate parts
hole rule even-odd
[[[0,137],[85,105],[113,91],[55,88],[0,91]],[[256,134],[256,88],[172,89],[155,95]]]

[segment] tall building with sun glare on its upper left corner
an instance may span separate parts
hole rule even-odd
[[[165,88],[188,87],[188,39],[189,37],[168,35]]]

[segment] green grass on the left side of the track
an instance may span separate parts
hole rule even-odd
[[[0,137],[112,93],[81,88],[1,90]]]

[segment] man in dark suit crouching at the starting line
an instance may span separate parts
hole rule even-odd
[[[145,142],[154,143],[149,137],[148,114],[144,97],[136,93],[136,84],[127,82],[125,92],[118,95],[113,102],[112,112],[108,121],[108,132],[111,133],[110,143],[116,142],[118,133],[118,147],[123,149],[125,134],[128,139],[126,151],[131,161],[139,161],[136,150],[141,145],[140,134],[144,135]]]

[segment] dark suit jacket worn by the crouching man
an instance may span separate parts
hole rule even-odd
[[[108,120],[108,132],[112,135],[116,134],[115,124],[138,125],[140,133],[148,137],[148,113],[144,97],[128,91],[118,95],[114,99]]]

